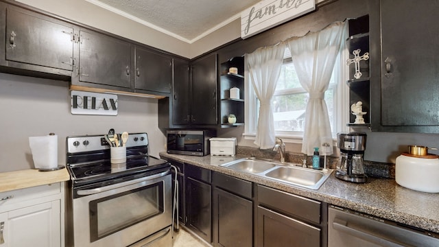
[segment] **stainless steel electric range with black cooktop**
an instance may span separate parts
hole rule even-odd
[[[126,163],[110,163],[104,135],[66,147],[67,246],[171,246],[170,164],[148,155],[146,133],[129,134]]]

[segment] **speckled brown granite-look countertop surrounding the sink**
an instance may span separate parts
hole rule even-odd
[[[285,185],[220,166],[235,159],[247,157],[239,154],[235,157],[218,157],[185,156],[161,152],[160,155],[162,158],[172,158],[274,189],[439,233],[439,193],[406,189],[396,184],[394,179],[370,178],[368,183],[355,184],[335,178],[333,172],[320,189],[313,190]]]

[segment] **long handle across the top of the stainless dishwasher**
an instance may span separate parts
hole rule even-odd
[[[389,247],[405,247],[407,244],[401,244],[397,242],[396,240],[392,239],[383,239],[382,237],[379,237],[377,235],[374,235],[373,233],[369,233],[366,228],[361,228],[361,226],[348,226],[348,222],[344,220],[340,220],[335,218],[334,222],[332,223],[332,226],[335,230],[343,231],[349,235],[353,235],[355,237],[359,237],[361,239],[364,239],[368,242],[389,246]],[[407,246],[410,247],[410,246]],[[414,247],[414,246],[413,246]]]

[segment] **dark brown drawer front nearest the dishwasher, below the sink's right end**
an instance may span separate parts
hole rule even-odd
[[[259,204],[320,224],[321,202],[258,185]]]

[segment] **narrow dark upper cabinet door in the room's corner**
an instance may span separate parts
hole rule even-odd
[[[190,123],[189,62],[174,59],[174,77],[172,84],[172,124]]]

